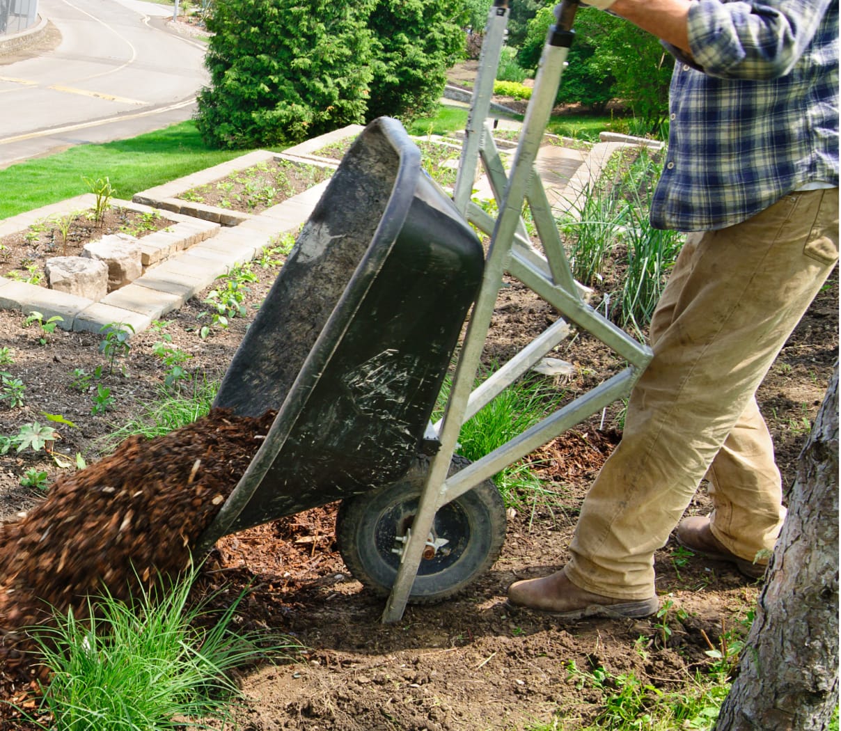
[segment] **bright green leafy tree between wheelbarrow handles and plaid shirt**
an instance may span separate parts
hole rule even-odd
[[[540,8],[517,54],[524,68],[537,68],[553,8]],[[674,61],[653,35],[626,20],[582,8],[575,17],[575,41],[558,88],[558,103],[604,107],[621,99],[648,130],[656,132],[669,108]]]

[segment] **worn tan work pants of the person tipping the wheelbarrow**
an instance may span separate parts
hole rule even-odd
[[[621,443],[581,509],[566,567],[574,584],[653,596],[654,551],[705,474],[716,538],[749,561],[774,547],[785,510],[754,394],[837,259],[838,188],[791,193],[743,223],[687,237]]]

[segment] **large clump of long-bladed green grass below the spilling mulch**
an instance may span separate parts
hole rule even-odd
[[[67,612],[32,628],[50,670],[38,708],[50,728],[174,731],[217,722],[228,728],[231,700],[239,695],[231,670],[301,648],[283,636],[237,630],[244,592],[218,614],[209,600],[189,601],[197,573],[137,591],[130,603],[94,597],[90,618]]]

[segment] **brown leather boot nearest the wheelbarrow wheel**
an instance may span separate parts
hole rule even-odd
[[[584,617],[648,617],[659,608],[656,596],[641,601],[614,599],[585,591],[567,578],[563,569],[542,579],[515,581],[508,587],[507,604],[561,619]]]

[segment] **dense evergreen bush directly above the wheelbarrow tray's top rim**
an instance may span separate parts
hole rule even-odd
[[[410,120],[441,98],[447,69],[463,55],[464,0],[379,0],[368,21],[375,39],[367,119]]]

